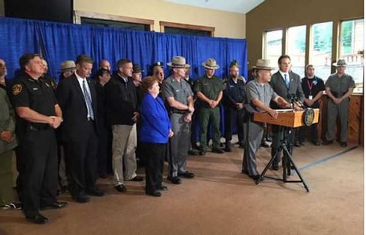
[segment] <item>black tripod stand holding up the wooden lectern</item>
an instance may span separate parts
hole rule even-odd
[[[289,152],[289,150],[287,148],[287,136],[290,133],[291,128],[285,127],[285,126],[280,126],[280,132],[281,131],[283,131],[283,133],[284,133],[283,139],[281,140],[281,144],[278,147],[278,149],[276,151],[276,154],[270,159],[270,161],[268,162],[268,164],[265,166],[262,174],[257,179],[256,184],[259,184],[263,180],[263,177],[265,177],[264,175],[268,171],[269,166],[275,160],[275,158],[277,157],[277,155],[279,153],[281,153],[281,151],[283,150],[284,151],[284,155],[282,157],[283,178],[282,179],[281,178],[274,178],[274,177],[266,177],[266,178],[270,178],[270,179],[274,179],[274,180],[280,180],[280,181],[282,181],[284,183],[302,183],[304,185],[305,189],[309,192],[308,185],[306,184],[306,182],[302,178],[300,172],[298,171],[297,166],[295,165],[295,163],[292,160],[292,155],[290,154],[290,152]],[[287,176],[290,176],[291,175],[291,166],[296,171],[296,174],[298,175],[298,177],[300,178],[300,180],[287,180]]]

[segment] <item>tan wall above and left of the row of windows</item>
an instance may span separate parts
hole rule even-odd
[[[363,17],[363,0],[266,0],[247,13],[248,61],[253,65],[262,57],[265,30],[333,21],[333,45],[337,45],[334,31],[340,20],[356,17]],[[337,57],[336,47],[332,55]]]

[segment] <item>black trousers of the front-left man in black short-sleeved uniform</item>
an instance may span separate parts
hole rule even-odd
[[[38,214],[40,206],[56,202],[57,144],[53,129],[30,132],[22,140],[24,163],[23,210],[27,217]]]

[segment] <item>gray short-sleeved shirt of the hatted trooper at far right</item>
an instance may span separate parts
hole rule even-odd
[[[352,76],[348,74],[343,74],[341,78],[338,77],[337,73],[329,76],[325,83],[325,88],[329,87],[331,92],[336,92],[338,98],[344,95],[348,89],[354,88],[355,83]]]

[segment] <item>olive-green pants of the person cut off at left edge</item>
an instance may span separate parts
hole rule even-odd
[[[0,206],[13,202],[13,151],[0,153]]]

